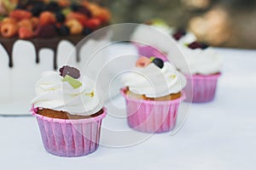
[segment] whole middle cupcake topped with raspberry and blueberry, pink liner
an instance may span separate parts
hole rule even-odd
[[[170,62],[141,57],[121,78],[128,125],[144,133],[165,133],[174,127],[186,78]]]

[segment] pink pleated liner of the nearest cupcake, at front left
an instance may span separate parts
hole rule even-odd
[[[102,119],[107,115],[103,108],[100,116],[65,120],[38,115],[38,108],[32,107],[37,117],[45,150],[55,156],[85,156],[99,146]]]

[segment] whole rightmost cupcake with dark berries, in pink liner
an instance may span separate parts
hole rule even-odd
[[[187,86],[184,88],[187,99],[194,103],[209,102],[214,99],[218,77],[221,75],[222,59],[214,49],[203,42],[191,42],[179,45],[187,65],[179,62],[175,56],[172,62],[177,69],[187,78]]]

